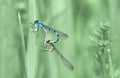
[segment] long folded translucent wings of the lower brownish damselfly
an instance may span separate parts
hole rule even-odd
[[[69,70],[74,70],[73,65],[56,49],[54,46],[55,54],[63,61],[64,65],[69,69]]]

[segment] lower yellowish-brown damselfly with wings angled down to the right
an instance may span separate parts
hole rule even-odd
[[[69,70],[73,70],[73,65],[57,50],[54,44],[50,43],[50,40],[47,40],[44,44],[44,48],[48,52],[54,51],[55,54],[63,61],[64,65],[68,67]]]

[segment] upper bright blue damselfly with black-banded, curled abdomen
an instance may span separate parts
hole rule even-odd
[[[68,37],[67,34],[60,32],[54,28],[48,27],[48,26],[44,25],[43,23],[39,22],[39,20],[35,20],[33,26],[34,26],[36,32],[39,31],[39,29],[43,29],[43,30],[54,33],[57,36],[57,39],[54,41],[50,41],[50,43],[52,43],[52,44],[58,42],[60,38]]]

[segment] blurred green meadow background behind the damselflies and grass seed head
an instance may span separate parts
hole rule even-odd
[[[54,53],[43,51],[43,31],[34,35],[29,27],[36,19],[69,35],[56,46],[74,71]],[[89,36],[100,22],[110,23],[113,64],[118,69],[119,19],[120,0],[0,0],[0,78],[102,78],[94,71]]]

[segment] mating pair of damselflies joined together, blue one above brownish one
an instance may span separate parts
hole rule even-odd
[[[48,26],[44,25],[43,23],[39,22],[39,20],[34,21],[33,27],[34,27],[35,32],[38,32],[39,29],[42,29],[42,30],[45,31],[44,49],[46,51],[48,51],[48,52],[54,51],[55,54],[63,61],[63,63],[70,70],[73,70],[74,69],[73,65],[58,51],[58,49],[54,45],[55,43],[57,43],[59,41],[59,39],[67,38],[68,35],[63,33],[63,32],[60,32],[60,31],[58,31],[56,29],[53,29],[51,27],[48,27]],[[54,33],[57,36],[57,39],[55,39],[55,40],[47,40],[46,36],[47,36],[47,33],[49,33],[49,32]]]

